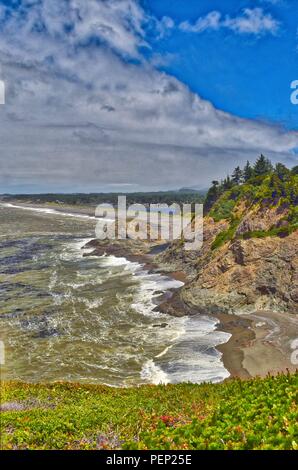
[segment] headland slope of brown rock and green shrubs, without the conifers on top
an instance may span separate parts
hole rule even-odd
[[[182,299],[202,313],[298,313],[298,175],[275,170],[217,191],[202,249],[175,242],[159,256],[191,275]]]

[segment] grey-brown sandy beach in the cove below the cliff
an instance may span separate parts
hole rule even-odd
[[[298,338],[297,315],[262,311],[217,317],[218,329],[232,334],[226,344],[217,347],[231,376],[265,377],[298,368],[291,360],[291,344]]]

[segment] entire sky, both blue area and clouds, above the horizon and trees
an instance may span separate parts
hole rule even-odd
[[[0,0],[0,193],[297,164],[298,0]]]

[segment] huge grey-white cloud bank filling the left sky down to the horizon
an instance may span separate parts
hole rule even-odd
[[[116,0],[23,0],[22,14],[2,23],[0,192],[41,183],[206,186],[260,152],[294,161],[296,132],[219,111],[153,61],[127,63],[123,56],[138,57],[146,43],[146,13],[123,2],[130,16]],[[99,19],[115,36],[100,32],[103,44],[87,47]]]

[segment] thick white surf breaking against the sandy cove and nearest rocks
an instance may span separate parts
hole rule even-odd
[[[146,361],[141,378],[154,384],[218,382],[227,378],[229,372],[215,347],[227,342],[231,335],[216,331],[218,320],[213,318],[201,315],[175,318],[158,312],[154,297],[160,292],[180,288],[183,282],[146,271],[138,275],[140,288],[132,307],[168,324],[167,328],[154,329],[152,340],[156,339],[157,343],[164,340],[167,346],[154,359]]]

